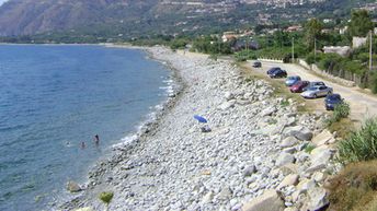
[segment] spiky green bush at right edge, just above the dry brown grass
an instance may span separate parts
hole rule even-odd
[[[338,148],[342,163],[377,159],[377,119],[366,120],[362,129],[351,132]]]

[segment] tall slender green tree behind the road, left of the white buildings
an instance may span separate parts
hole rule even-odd
[[[321,36],[322,23],[317,19],[310,19],[305,25],[305,44],[309,50],[315,48],[315,40]]]

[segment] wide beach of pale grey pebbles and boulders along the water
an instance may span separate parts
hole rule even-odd
[[[176,71],[181,89],[138,138],[114,149],[84,191],[61,210],[320,210],[336,172],[324,114],[301,114],[263,80],[229,61],[148,49]],[[193,116],[208,120],[209,132]]]

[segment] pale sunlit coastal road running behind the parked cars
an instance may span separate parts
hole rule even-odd
[[[282,69],[287,71],[288,75],[300,75],[302,80],[308,81],[323,81],[327,85],[333,87],[334,93],[341,94],[342,97],[344,97],[344,99],[350,104],[351,119],[353,120],[365,120],[366,118],[377,116],[377,96],[362,93],[359,87],[347,87],[330,82],[329,80],[319,78],[311,71],[306,70],[305,68],[297,65],[262,62],[262,67],[263,68],[254,70],[265,73],[272,67],[281,67]],[[308,101],[313,101],[316,103],[318,102],[318,105],[320,105],[318,106],[318,109],[324,110],[323,98]]]

